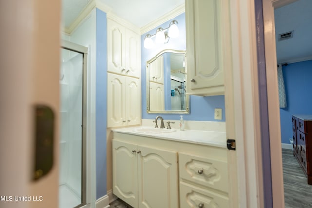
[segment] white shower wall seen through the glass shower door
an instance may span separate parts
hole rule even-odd
[[[65,56],[67,53],[65,54]],[[61,85],[61,166],[60,184],[65,184],[81,197],[82,154],[82,55],[73,56],[62,64]],[[61,75],[62,76],[62,75]],[[61,77],[62,78],[62,77]],[[64,161],[63,161],[64,160]],[[67,164],[67,166],[65,166]]]

